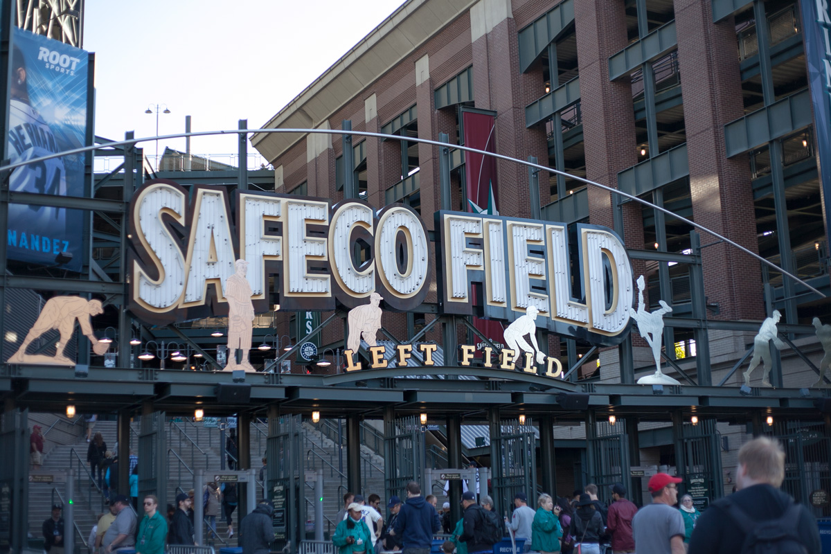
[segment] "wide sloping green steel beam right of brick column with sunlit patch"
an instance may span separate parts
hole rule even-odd
[[[801,91],[725,125],[725,150],[732,158],[813,123],[811,96]]]

